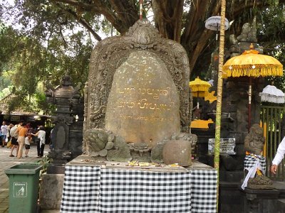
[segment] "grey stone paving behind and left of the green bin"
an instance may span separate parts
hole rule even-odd
[[[25,148],[24,148],[25,151]],[[44,155],[47,155],[49,151],[48,146],[46,146]],[[11,166],[20,164],[20,163],[36,163],[40,158],[37,157],[36,146],[32,145],[31,149],[28,153],[28,158],[18,159],[16,157],[9,157],[11,152],[10,148],[2,148],[0,146],[0,213],[8,213],[9,212],[9,178],[5,174],[5,170],[11,168]],[[14,155],[16,153],[16,149],[14,149]]]

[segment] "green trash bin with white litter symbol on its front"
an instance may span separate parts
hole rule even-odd
[[[5,170],[9,177],[9,212],[36,212],[42,165],[21,164]]]

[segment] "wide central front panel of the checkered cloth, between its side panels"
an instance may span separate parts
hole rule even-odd
[[[101,171],[99,212],[190,212],[188,173]]]

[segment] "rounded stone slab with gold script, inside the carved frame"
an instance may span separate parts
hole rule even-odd
[[[155,146],[180,132],[180,100],[167,67],[147,50],[130,53],[115,72],[105,128],[128,143]]]

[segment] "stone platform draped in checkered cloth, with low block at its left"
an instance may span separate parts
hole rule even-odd
[[[217,172],[209,165],[195,160],[187,168],[132,163],[79,155],[65,165],[64,175],[43,176],[41,210],[215,212]],[[48,199],[48,194],[53,200]]]

